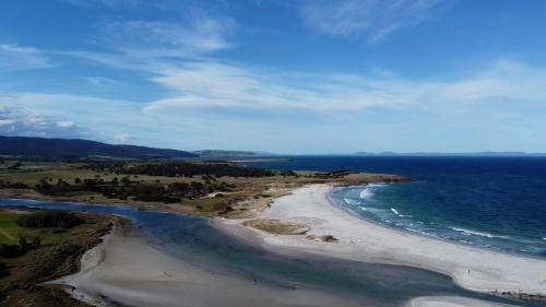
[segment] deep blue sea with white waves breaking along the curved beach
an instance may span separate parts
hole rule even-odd
[[[546,157],[293,156],[251,166],[410,176],[340,188],[331,199],[391,227],[546,258]]]

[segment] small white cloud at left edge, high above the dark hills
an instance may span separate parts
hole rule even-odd
[[[0,44],[0,71],[51,67],[40,50],[13,44]]]

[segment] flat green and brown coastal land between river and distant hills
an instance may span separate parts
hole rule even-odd
[[[0,197],[111,203],[201,215],[245,216],[307,184],[402,181],[392,175],[292,172],[228,161],[82,158],[0,163]]]

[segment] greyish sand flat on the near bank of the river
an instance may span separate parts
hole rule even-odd
[[[266,286],[218,275],[154,249],[145,240],[115,229],[82,258],[82,270],[49,284],[71,285],[73,296],[106,306],[360,306],[333,295]]]

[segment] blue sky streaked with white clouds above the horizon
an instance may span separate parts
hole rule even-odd
[[[546,152],[546,1],[7,0],[0,134]]]

